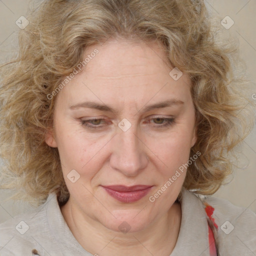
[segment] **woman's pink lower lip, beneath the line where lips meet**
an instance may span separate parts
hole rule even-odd
[[[104,187],[106,192],[121,202],[135,202],[144,197],[149,190],[151,189],[151,186],[145,189],[136,190],[136,191],[128,191],[128,192],[120,192],[116,190],[112,190],[110,188]]]

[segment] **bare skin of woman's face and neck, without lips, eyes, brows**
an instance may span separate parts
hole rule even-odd
[[[54,127],[45,137],[49,146],[58,148],[70,192],[61,212],[74,237],[92,255],[167,256],[178,237],[181,207],[175,200],[186,171],[154,202],[149,196],[187,162],[196,141],[189,76],[183,73],[175,81],[169,75],[173,67],[157,42],[108,40],[91,45],[84,57],[95,48],[99,53],[58,93]],[[172,98],[184,103],[143,109]],[[84,101],[103,103],[115,112],[70,109]],[[101,125],[96,130],[81,122],[93,117],[104,119],[89,123]],[[161,118],[173,117],[171,125],[161,127],[166,123]],[[127,131],[118,127],[123,118],[131,124]],[[74,183],[67,178],[72,169],[80,175]],[[101,186],[113,184],[152,188],[140,200],[125,203]],[[129,225],[127,233],[118,228],[123,221]]]

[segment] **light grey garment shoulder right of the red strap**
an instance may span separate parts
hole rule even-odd
[[[204,207],[211,207],[214,236],[220,255],[256,253],[256,214],[215,196],[198,196]],[[208,216],[209,217],[209,216]]]

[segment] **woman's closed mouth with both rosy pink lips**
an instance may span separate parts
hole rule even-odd
[[[121,202],[135,202],[144,197],[153,186],[149,185],[134,185],[134,186],[124,186],[124,185],[111,185],[102,186],[105,191]]]

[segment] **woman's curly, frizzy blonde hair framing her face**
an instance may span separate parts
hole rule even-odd
[[[120,37],[157,40],[168,61],[191,79],[197,141],[183,186],[212,194],[232,172],[231,157],[250,133],[255,103],[238,75],[237,45],[221,42],[200,0],[44,0],[19,32],[16,58],[1,65],[0,187],[33,205],[49,192],[64,202],[57,148],[45,141],[56,96],[47,97],[83,59],[89,45]]]

